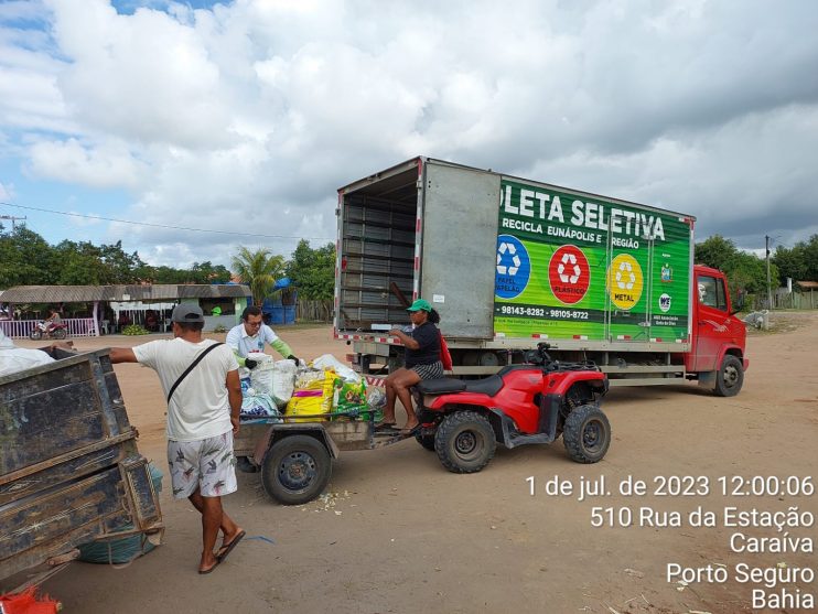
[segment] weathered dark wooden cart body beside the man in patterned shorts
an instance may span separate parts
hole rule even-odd
[[[163,528],[108,349],[54,354],[0,377],[0,579]]]

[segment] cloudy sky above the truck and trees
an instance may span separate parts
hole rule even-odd
[[[338,186],[423,154],[792,246],[816,32],[812,0],[0,1],[0,215],[154,265],[289,256],[334,240]]]

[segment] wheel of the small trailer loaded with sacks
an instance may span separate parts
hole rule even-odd
[[[323,492],[331,473],[332,460],[323,443],[310,435],[289,435],[265,454],[261,484],[277,502],[301,505]]]

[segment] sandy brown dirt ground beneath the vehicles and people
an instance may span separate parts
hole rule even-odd
[[[752,591],[736,565],[782,573],[818,569],[816,554],[734,552],[735,532],[773,537],[775,528],[725,527],[723,510],[818,514],[818,495],[722,496],[720,477],[810,478],[818,466],[818,314],[776,315],[777,331],[752,333],[751,368],[735,398],[696,386],[616,389],[603,407],[614,440],[595,465],[571,462],[562,442],[498,450],[474,475],[444,471],[437,455],[415,441],[346,452],[334,464],[327,500],[286,507],[269,500],[259,474],[239,474],[239,492],[226,497],[229,514],[248,538],[211,575],[200,577],[198,515],[162,494],[165,543],[123,570],[72,563],[43,585],[66,612],[709,612],[754,611]],[[346,347],[329,328],[280,330],[303,357]],[[137,340],[143,341],[142,338]],[[77,346],[129,344],[127,337],[78,341]],[[153,371],[121,365],[117,374],[140,450],[164,463],[164,405]],[[645,495],[618,494],[642,480]],[[709,494],[659,496],[656,480],[701,476]],[[610,495],[578,500],[581,481],[605,480]],[[549,495],[549,481],[574,488]],[[530,486],[534,481],[535,494]],[[809,480],[807,481],[809,482]],[[777,482],[776,482],[777,484]],[[796,484],[790,482],[790,484]],[[593,508],[604,524],[592,526]],[[701,507],[717,513],[714,527],[690,526]],[[674,513],[681,526],[639,526],[641,508]],[[642,514],[647,514],[643,511]],[[756,523],[757,524],[757,523]],[[816,538],[815,526],[789,527],[792,538]],[[668,581],[668,564],[728,571],[725,582]],[[726,567],[721,567],[726,565]],[[818,593],[816,582],[779,582],[793,595]],[[801,602],[801,605],[804,602]],[[785,603],[785,605],[788,605]],[[761,610],[756,610],[761,611]],[[796,612],[786,606],[767,611]],[[807,610],[804,610],[807,611]]]

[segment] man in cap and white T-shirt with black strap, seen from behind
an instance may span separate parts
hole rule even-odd
[[[241,409],[238,364],[229,347],[202,336],[204,315],[200,308],[176,305],[171,326],[173,340],[114,347],[110,359],[115,364],[140,363],[159,375],[168,398],[173,496],[186,497],[202,514],[198,572],[209,573],[245,536],[222,508],[222,496],[237,488],[233,435],[238,433]],[[219,529],[222,546],[214,552]]]

